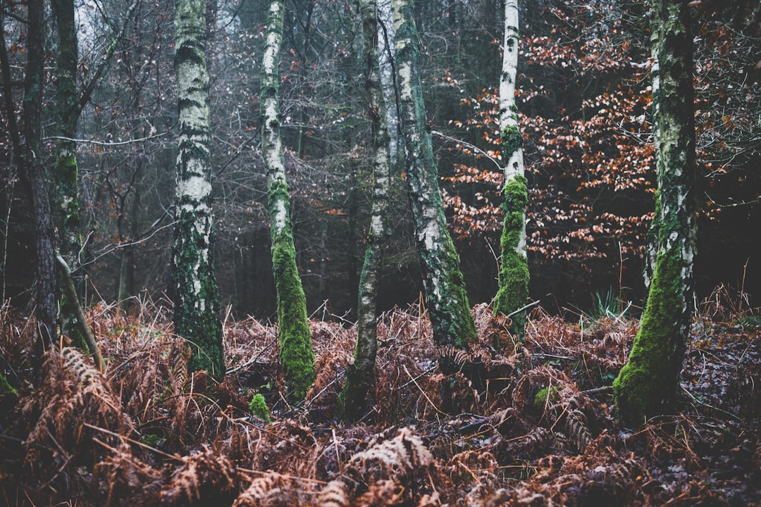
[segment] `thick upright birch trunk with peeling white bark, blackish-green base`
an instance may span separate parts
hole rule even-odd
[[[174,69],[180,136],[174,193],[174,332],[191,344],[188,369],[224,376],[214,272],[209,74],[204,0],[177,0]]]

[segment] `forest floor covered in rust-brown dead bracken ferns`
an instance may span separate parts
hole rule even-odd
[[[708,301],[676,410],[636,429],[610,385],[638,322],[535,310],[517,343],[473,309],[479,342],[444,377],[422,306],[380,318],[374,400],[342,423],[336,398],[355,328],[310,322],[317,382],[285,401],[276,328],[225,322],[224,382],[187,375],[163,309],[88,318],[103,374],[46,354],[32,388],[33,321],[2,309],[0,505],[761,505],[761,318]],[[447,386],[446,389],[443,389]],[[442,395],[446,392],[446,395]],[[273,420],[249,409],[264,395]]]

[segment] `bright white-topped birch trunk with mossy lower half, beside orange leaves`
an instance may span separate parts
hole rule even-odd
[[[518,2],[505,2],[505,38],[502,44],[502,74],[499,82],[499,128],[502,160],[505,160],[505,223],[500,240],[499,290],[494,312],[510,315],[528,299],[526,256],[527,182],[524,175],[523,135],[518,128],[515,106],[515,76],[518,63]],[[511,331],[523,335],[524,312],[512,315]]]

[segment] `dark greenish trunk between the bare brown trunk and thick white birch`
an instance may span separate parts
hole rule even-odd
[[[81,272],[79,252],[81,231],[79,220],[78,167],[75,138],[79,118],[79,89],[77,86],[78,45],[77,29],[74,21],[73,0],[53,0],[53,12],[58,27],[58,59],[56,68],[56,169],[53,218],[58,230],[59,254],[66,261],[72,273],[72,281],[81,293],[84,276]],[[62,139],[68,138],[68,139]],[[76,301],[70,301],[62,271],[59,271],[59,323],[61,330],[68,334],[75,346],[88,350],[88,344],[78,322]]]

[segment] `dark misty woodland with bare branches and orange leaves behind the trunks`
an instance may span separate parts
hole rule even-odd
[[[145,3],[134,19],[123,20],[126,2],[120,2],[103,3],[113,13],[108,21],[128,28],[84,110],[78,136],[100,143],[78,144],[88,303],[116,300],[119,290],[122,296],[172,298],[174,6]],[[358,14],[351,2],[286,3],[282,132],[298,265],[310,312],[352,319],[371,191]],[[486,154],[498,149],[493,109],[501,5],[417,3],[423,84],[447,215],[470,301],[489,302],[497,288],[501,176]],[[259,149],[263,4],[209,2],[214,21],[207,51],[221,300],[234,315],[257,318],[275,313]],[[693,2],[693,17],[698,299],[724,285],[757,306],[750,297],[761,287],[761,9],[745,0]],[[78,9],[78,21],[84,80],[108,28],[88,4]],[[530,189],[530,296],[553,313],[586,311],[598,300],[632,301],[631,312],[641,306],[654,189],[647,24],[645,2],[521,4],[517,101]],[[14,78],[21,79],[22,30],[9,18],[5,30],[11,68],[19,69]],[[55,61],[54,47],[48,58]],[[55,100],[54,79],[49,72],[48,101]],[[4,113],[0,121],[6,120]],[[46,135],[52,135],[47,120]],[[6,125],[0,135],[2,296],[24,308],[32,296],[33,226],[27,188],[10,161]],[[381,310],[416,301],[421,290],[403,170],[396,175]]]

